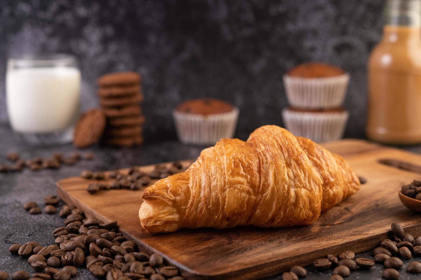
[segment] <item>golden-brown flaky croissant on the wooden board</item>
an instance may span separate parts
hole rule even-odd
[[[221,139],[186,171],[147,187],[139,218],[151,234],[309,225],[358,189],[358,177],[341,156],[265,125],[246,142]]]

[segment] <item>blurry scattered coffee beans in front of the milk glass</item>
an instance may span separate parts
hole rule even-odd
[[[59,152],[53,152],[53,155],[48,158],[35,157],[29,160],[22,160],[18,153],[11,152],[6,155],[6,159],[11,162],[11,165],[0,164],[0,172],[18,172],[23,171],[24,168],[29,168],[31,171],[38,171],[41,169],[58,169],[61,165],[75,165],[81,159],[93,160],[93,154],[86,152],[83,157],[78,152],[73,152],[70,156],[65,157]]]

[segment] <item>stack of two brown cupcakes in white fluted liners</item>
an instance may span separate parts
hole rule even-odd
[[[285,127],[316,142],[342,138],[349,113],[344,103],[349,75],[323,63],[300,64],[283,76],[288,103],[282,110]]]

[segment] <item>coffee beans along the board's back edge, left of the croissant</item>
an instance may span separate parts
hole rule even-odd
[[[112,179],[111,182],[100,182],[89,184],[86,190],[90,194],[95,194],[100,190],[109,189],[132,189],[139,190],[151,184],[153,179],[163,179],[168,176],[184,171],[185,168],[179,161],[174,161],[168,168],[165,164],[155,165],[154,170],[145,173],[139,167],[132,167],[129,169],[128,174],[121,173],[120,171],[92,172],[89,170],[82,171],[80,176],[85,179],[91,180],[105,180]]]

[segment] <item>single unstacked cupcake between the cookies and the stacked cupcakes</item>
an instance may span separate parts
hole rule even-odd
[[[239,110],[213,98],[192,99],[173,110],[177,136],[183,144],[212,145],[232,138]]]

